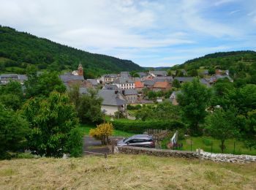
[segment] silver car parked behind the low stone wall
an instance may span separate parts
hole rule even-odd
[[[155,148],[154,140],[152,136],[148,134],[136,134],[129,138],[124,138],[117,142],[118,146],[138,146],[138,147],[146,147],[146,148]]]

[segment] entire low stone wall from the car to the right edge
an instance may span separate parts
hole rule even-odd
[[[256,156],[249,155],[233,155],[225,153],[208,153],[200,150],[200,154],[195,151],[174,151],[167,149],[156,149],[156,148],[140,148],[132,146],[116,147],[116,153],[127,153],[127,154],[146,154],[150,156],[160,157],[176,157],[186,159],[206,159],[217,162],[230,162],[244,164],[249,162],[256,162]],[[200,156],[199,156],[200,155]]]

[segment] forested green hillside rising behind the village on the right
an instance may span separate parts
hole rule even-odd
[[[235,80],[256,84],[256,52],[246,50],[211,53],[173,66],[170,70],[176,69],[185,69],[190,74],[196,71],[197,75],[204,69],[224,69],[229,70],[230,76]]]

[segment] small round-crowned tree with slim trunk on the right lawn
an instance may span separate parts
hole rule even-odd
[[[225,150],[225,140],[236,137],[238,134],[236,109],[230,110],[219,108],[206,118],[206,132],[221,141],[222,153]]]

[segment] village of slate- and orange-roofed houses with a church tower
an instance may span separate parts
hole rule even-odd
[[[188,73],[181,69],[183,77],[169,76],[165,70],[152,70],[149,72],[136,72],[137,77],[132,77],[129,72],[120,72],[118,74],[102,75],[97,79],[85,79],[82,64],[78,69],[72,72],[66,72],[59,75],[67,91],[73,86],[79,86],[80,94],[89,94],[89,88],[98,91],[98,96],[103,99],[102,111],[106,115],[115,115],[121,112],[127,115],[127,104],[152,104],[154,102],[169,101],[177,105],[176,100],[179,86],[182,83],[192,82],[194,77],[188,76]],[[40,75],[42,72],[38,72]],[[233,79],[229,76],[228,70],[216,69],[214,75],[209,75],[208,69],[200,73],[200,83],[210,88],[218,79],[227,78],[230,82]],[[10,81],[18,81],[23,88],[27,80],[26,75],[3,74],[0,75],[0,85],[5,85]],[[177,83],[180,85],[177,86]],[[153,96],[148,96],[153,94]]]

